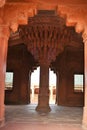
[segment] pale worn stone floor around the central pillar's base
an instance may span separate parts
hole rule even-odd
[[[52,111],[40,113],[36,105],[6,106],[5,125],[0,130],[83,130],[81,107],[51,105]]]

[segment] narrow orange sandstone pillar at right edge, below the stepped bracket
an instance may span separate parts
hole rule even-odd
[[[84,78],[85,78],[85,94],[84,94],[84,110],[83,125],[87,127],[87,33],[83,34],[84,39]]]

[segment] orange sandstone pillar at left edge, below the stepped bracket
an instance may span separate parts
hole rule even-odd
[[[9,29],[0,26],[0,125],[4,122],[4,90]]]

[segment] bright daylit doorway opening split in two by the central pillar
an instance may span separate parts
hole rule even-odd
[[[39,74],[40,67],[38,67],[31,74],[31,104],[38,103],[38,93],[39,93]],[[56,100],[56,74],[49,69],[49,104],[55,104]]]

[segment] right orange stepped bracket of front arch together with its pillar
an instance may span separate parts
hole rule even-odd
[[[83,111],[83,126],[87,127],[87,11],[84,5],[78,6],[58,6],[58,13],[60,16],[66,18],[66,26],[74,26],[77,33],[82,33],[84,42],[84,74],[85,74],[85,94],[84,94],[84,111]],[[84,15],[85,16],[84,16]]]

